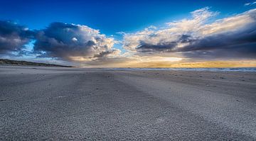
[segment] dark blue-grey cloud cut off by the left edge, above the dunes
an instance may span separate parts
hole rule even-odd
[[[12,21],[0,21],[0,54],[18,52],[33,38],[33,31]]]

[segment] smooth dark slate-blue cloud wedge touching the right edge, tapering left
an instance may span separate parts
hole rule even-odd
[[[210,55],[212,57],[256,58],[256,25],[236,33],[217,34],[188,43],[185,47],[175,51],[187,52],[184,54],[190,57]],[[193,51],[196,52],[189,55],[188,52]]]

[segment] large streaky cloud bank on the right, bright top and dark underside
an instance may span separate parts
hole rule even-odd
[[[192,18],[123,33],[123,47],[137,55],[169,52],[183,57],[256,57],[256,9],[208,23],[218,12],[191,12]]]

